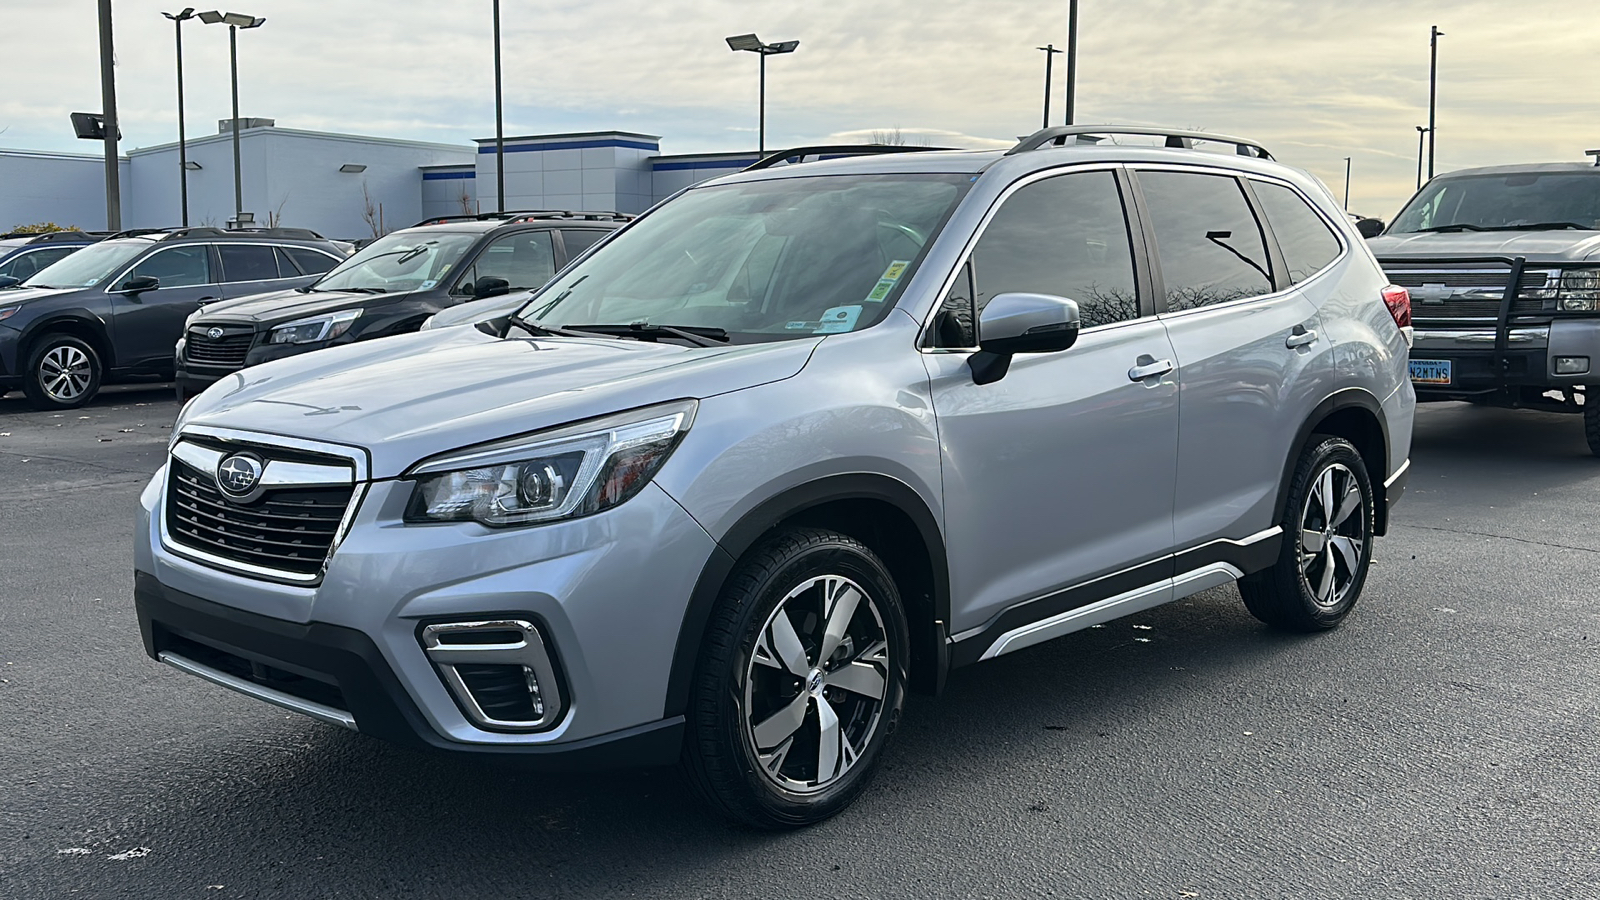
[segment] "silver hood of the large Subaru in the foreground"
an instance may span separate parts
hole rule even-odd
[[[781,381],[805,367],[821,340],[683,348],[496,338],[477,328],[419,331],[237,372],[200,394],[178,428],[360,447],[371,476],[386,479],[485,440]]]

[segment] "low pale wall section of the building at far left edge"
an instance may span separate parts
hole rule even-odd
[[[122,221],[128,227],[131,178],[122,179]],[[14,226],[56,223],[82,231],[106,229],[106,157],[0,151],[0,232]]]

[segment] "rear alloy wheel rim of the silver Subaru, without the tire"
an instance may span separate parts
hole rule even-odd
[[[1318,607],[1333,609],[1362,572],[1366,509],[1362,485],[1344,463],[1333,463],[1307,492],[1301,512],[1299,572]]]

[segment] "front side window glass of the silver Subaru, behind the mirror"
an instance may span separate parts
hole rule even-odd
[[[1058,175],[1006,199],[973,251],[976,311],[995,295],[1048,293],[1078,304],[1083,328],[1139,317],[1133,242],[1117,176]]]

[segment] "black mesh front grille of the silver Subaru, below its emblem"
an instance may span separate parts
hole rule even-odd
[[[354,485],[275,488],[238,504],[211,472],[173,458],[166,477],[166,533],[176,543],[234,562],[315,577],[350,506]]]

